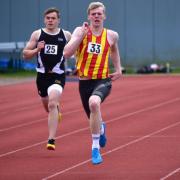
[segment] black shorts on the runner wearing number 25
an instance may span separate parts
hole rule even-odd
[[[38,89],[38,94],[41,97],[46,97],[48,95],[47,89],[53,84],[59,84],[62,88],[65,86],[65,74],[56,73],[37,73],[36,85]]]

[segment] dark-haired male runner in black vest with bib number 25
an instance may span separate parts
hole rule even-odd
[[[35,30],[23,50],[25,59],[37,56],[37,89],[48,112],[49,137],[47,149],[55,150],[55,135],[60,119],[59,100],[65,85],[63,49],[71,33],[59,28],[60,13],[57,8],[44,12],[42,29]]]

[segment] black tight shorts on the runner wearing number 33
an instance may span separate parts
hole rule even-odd
[[[111,79],[92,79],[79,80],[79,93],[81,101],[88,118],[90,117],[89,98],[97,95],[101,98],[101,102],[110,94],[112,87]]]

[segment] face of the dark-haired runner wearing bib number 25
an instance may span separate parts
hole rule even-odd
[[[52,13],[47,14],[44,17],[44,23],[47,29],[49,30],[56,29],[59,25],[59,18],[57,17],[57,13],[52,12]]]

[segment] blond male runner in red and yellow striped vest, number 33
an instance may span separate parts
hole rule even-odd
[[[66,58],[76,53],[79,92],[84,110],[90,120],[92,134],[92,163],[101,163],[100,147],[106,145],[105,123],[101,116],[101,103],[109,95],[111,81],[121,72],[118,33],[103,27],[105,6],[92,2],[87,9],[88,20],[77,27],[64,48]],[[109,74],[108,60],[112,59],[115,72]]]

